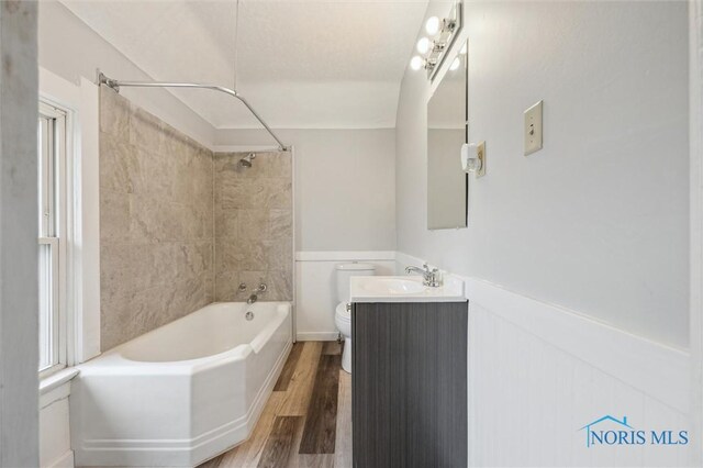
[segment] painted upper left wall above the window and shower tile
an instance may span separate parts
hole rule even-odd
[[[80,77],[96,81],[98,68],[116,79],[178,80],[149,77],[58,1],[40,2],[38,44],[40,66],[74,83]],[[201,144],[212,145],[214,127],[170,92],[137,88],[120,92]]]

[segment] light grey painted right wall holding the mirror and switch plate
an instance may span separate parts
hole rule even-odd
[[[408,70],[398,249],[685,348],[687,4],[467,2],[465,13],[469,135],[487,142],[488,172],[469,180],[468,229],[426,230],[428,90]],[[544,149],[524,157],[523,111],[540,99]]]

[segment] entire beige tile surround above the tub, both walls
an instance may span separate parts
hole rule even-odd
[[[101,348],[213,301],[292,300],[290,153],[213,154],[100,90]],[[241,282],[247,291],[238,292]]]

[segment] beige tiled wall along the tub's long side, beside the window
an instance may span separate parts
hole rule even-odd
[[[213,154],[100,91],[101,348],[214,298]]]

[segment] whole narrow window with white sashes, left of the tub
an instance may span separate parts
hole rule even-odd
[[[66,343],[66,112],[40,102],[38,248],[40,375],[67,361]]]

